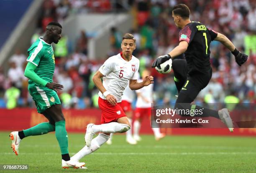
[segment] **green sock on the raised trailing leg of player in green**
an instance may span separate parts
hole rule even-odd
[[[54,125],[51,125],[50,123],[40,123],[27,130],[23,130],[23,132],[25,137],[28,137],[28,136],[43,135],[49,132],[53,132],[54,130],[55,130]]]

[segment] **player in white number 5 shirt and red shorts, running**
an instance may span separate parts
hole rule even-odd
[[[138,90],[154,83],[153,76],[147,76],[141,83],[137,82],[137,75],[134,74],[138,72],[139,60],[132,55],[135,48],[136,40],[133,35],[125,34],[121,43],[122,52],[108,58],[93,76],[92,80],[100,90],[98,104],[102,111],[101,124],[87,125],[86,146],[72,159],[80,160],[100,148],[110,138],[110,133],[124,133],[130,129],[129,120],[120,107],[123,91],[128,83],[131,90]],[[92,139],[95,133],[99,135]]]

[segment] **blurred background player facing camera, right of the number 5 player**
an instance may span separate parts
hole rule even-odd
[[[142,73],[142,79],[146,78],[150,74],[149,70],[144,70]],[[141,128],[141,120],[143,117],[151,118],[151,103],[153,103],[153,85],[148,85],[139,90],[136,90],[137,101],[135,110],[135,121],[133,123],[133,138],[137,141],[141,140],[139,131]],[[155,139],[160,140],[164,138],[164,134],[160,133],[160,128],[152,128]]]

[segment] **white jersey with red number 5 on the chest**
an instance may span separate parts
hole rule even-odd
[[[115,96],[117,103],[122,101],[123,91],[127,87],[129,80],[138,79],[135,74],[138,73],[139,65],[140,62],[135,56],[132,56],[130,61],[126,61],[122,57],[122,53],[119,53],[108,58],[100,67],[100,73],[105,76],[102,84],[111,95]],[[102,99],[106,99],[101,92],[99,92],[99,96]]]

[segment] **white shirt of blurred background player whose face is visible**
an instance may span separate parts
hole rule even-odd
[[[141,81],[142,80],[138,80],[138,82]],[[143,98],[146,98],[149,101],[149,103],[147,103],[141,97],[138,97],[136,101],[136,108],[151,108],[151,103],[153,103],[153,84],[136,90],[136,93],[141,93]]]

